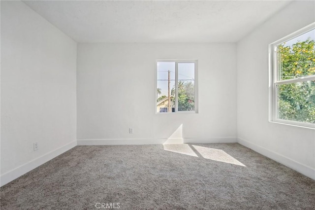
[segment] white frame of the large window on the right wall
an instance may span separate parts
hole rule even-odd
[[[277,64],[277,46],[299,35],[303,35],[309,31],[312,31],[314,29],[315,29],[315,23],[312,23],[290,35],[284,36],[283,38],[269,44],[269,122],[315,129],[315,124],[313,123],[305,123],[305,122],[298,122],[298,121],[284,120],[284,119],[277,118],[278,116],[277,85],[304,82],[304,81],[315,79],[315,75],[310,75],[310,76],[304,76],[304,77],[299,77],[299,78],[294,78],[294,79],[279,80],[278,79],[279,71],[278,71],[278,64]]]

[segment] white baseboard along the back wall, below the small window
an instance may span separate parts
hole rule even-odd
[[[184,139],[102,139],[77,140],[78,145],[139,145],[139,144],[174,144],[174,143],[236,143],[236,137],[224,138],[184,138]]]

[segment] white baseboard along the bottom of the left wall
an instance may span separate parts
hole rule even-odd
[[[36,167],[46,163],[47,161],[50,161],[51,159],[57,157],[58,155],[61,155],[63,152],[68,151],[69,149],[75,147],[77,145],[77,141],[71,141],[70,143],[65,144],[62,147],[59,147],[51,152],[48,152],[45,155],[42,155],[22,166],[19,166],[3,175],[1,175],[0,178],[0,186],[3,186],[7,183],[9,183],[10,181],[18,178],[21,175],[24,175],[30,171],[32,171],[33,169],[35,169]]]

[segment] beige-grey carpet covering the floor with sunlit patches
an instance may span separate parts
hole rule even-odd
[[[237,143],[76,146],[0,190],[1,210],[315,209],[314,180]]]

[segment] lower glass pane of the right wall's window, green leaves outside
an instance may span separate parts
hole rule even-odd
[[[278,85],[277,118],[315,123],[315,80]]]

